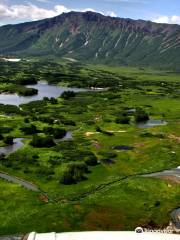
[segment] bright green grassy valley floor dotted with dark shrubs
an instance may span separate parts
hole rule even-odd
[[[141,175],[180,165],[180,75],[61,62],[32,61],[28,69],[26,63],[17,65],[18,70],[8,63],[3,69],[17,79],[16,71],[29,79],[36,69],[37,80],[105,91],[59,97],[57,102],[44,99],[21,105],[21,110],[0,106],[0,146],[8,136],[24,138],[22,149],[1,156],[0,171],[36,184],[54,200],[47,203],[40,193],[1,180],[0,235],[165,227],[170,212],[180,205],[180,186]],[[1,89],[4,79],[1,76]],[[16,86],[16,81],[11,84]],[[139,108],[150,119],[168,124],[138,128],[136,113],[128,110]],[[122,124],[124,117],[128,124]],[[71,131],[73,139],[32,146],[33,135],[53,138],[52,129]],[[96,164],[89,164],[92,159]],[[62,173],[74,163],[85,163],[88,171],[62,184]]]

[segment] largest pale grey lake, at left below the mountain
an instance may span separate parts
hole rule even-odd
[[[19,106],[20,104],[29,103],[36,100],[42,100],[44,97],[59,97],[64,91],[86,92],[83,88],[69,88],[56,85],[50,85],[47,82],[39,81],[37,84],[27,85],[28,88],[35,88],[38,90],[37,95],[22,97],[17,94],[0,94],[0,103]],[[89,90],[90,91],[90,90]]]

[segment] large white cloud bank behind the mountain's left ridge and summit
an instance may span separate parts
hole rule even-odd
[[[40,0],[40,1],[48,1],[48,0]],[[67,13],[70,11],[92,11],[96,12],[95,9],[85,8],[85,9],[70,9],[64,5],[56,5],[53,9],[46,9],[42,7],[38,7],[31,3],[25,4],[16,4],[16,5],[8,5],[6,3],[0,2],[0,23],[10,23],[10,22],[22,22],[22,21],[32,21],[32,20],[40,20],[44,18],[50,18],[57,16],[62,13]],[[100,12],[107,16],[117,16],[115,12]]]

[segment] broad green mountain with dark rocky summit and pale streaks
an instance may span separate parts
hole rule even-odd
[[[0,27],[0,54],[180,70],[180,26],[70,12]]]

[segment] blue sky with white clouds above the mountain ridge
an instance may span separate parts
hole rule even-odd
[[[0,25],[34,21],[69,11],[180,24],[180,0],[0,0]]]

